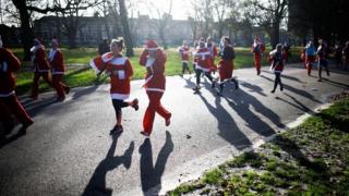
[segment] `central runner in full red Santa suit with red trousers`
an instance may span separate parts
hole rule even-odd
[[[165,119],[165,125],[170,125],[171,113],[161,105],[161,97],[165,93],[165,62],[166,54],[158,47],[155,40],[148,40],[145,50],[140,57],[140,64],[146,68],[146,76],[144,88],[149,99],[149,105],[145,111],[143,119],[143,128],[141,132],[149,137],[153,131],[155,113],[160,114]]]

